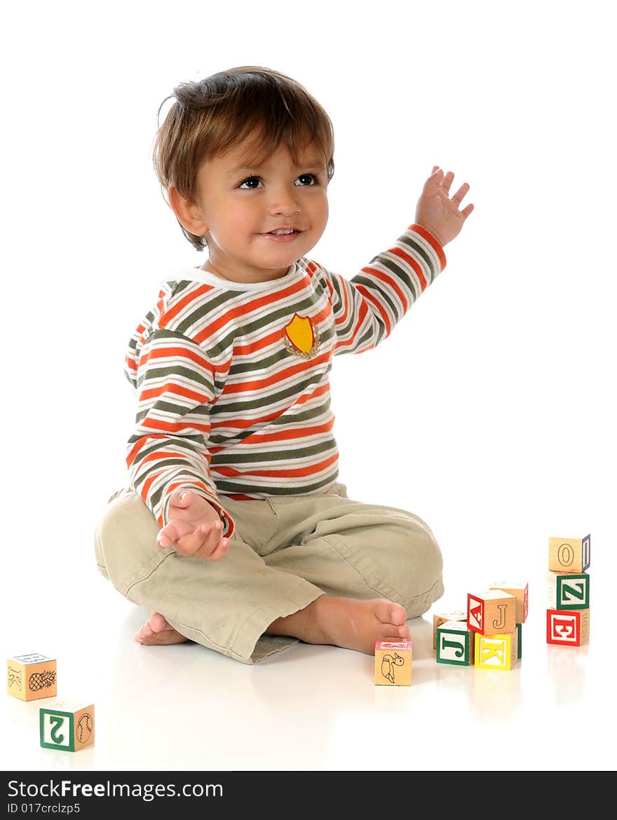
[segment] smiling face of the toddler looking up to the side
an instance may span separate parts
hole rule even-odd
[[[246,147],[240,146],[203,163],[197,203],[190,206],[199,230],[189,230],[208,240],[209,264],[204,269],[242,282],[276,279],[308,253],[325,230],[326,166],[312,145],[298,157],[299,166],[285,146],[259,167],[246,167],[245,156]],[[288,227],[296,232],[269,235]]]

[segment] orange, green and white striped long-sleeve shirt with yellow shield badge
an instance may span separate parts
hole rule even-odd
[[[436,239],[410,225],[351,280],[307,257],[250,284],[178,271],[126,355],[139,400],[130,484],[159,524],[180,487],[218,509],[227,535],[225,497],[327,490],[338,476],[332,356],[375,347],[445,266]]]

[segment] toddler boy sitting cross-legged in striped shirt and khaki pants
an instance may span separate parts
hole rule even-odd
[[[99,571],[152,610],[144,645],[256,663],[298,640],[369,654],[409,640],[405,621],[443,594],[441,551],[411,512],[347,498],[328,376],[443,270],[468,185],[450,197],[454,175],[433,168],[414,224],[346,280],[306,256],[334,173],[306,89],[240,66],[173,96],[154,165],[208,260],[172,273],[130,339],[129,482],[98,526]]]

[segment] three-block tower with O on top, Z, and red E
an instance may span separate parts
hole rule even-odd
[[[589,640],[592,536],[549,538],[546,643],[582,646]]]

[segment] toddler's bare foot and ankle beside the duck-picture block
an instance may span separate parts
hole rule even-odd
[[[407,613],[386,598],[362,601],[321,595],[308,607],[277,618],[272,635],[292,635],[305,644],[331,644],[375,654],[376,640],[409,640]]]

